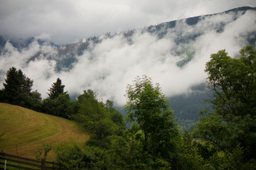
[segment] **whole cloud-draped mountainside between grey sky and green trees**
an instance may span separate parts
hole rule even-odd
[[[245,6],[68,45],[55,45],[47,36],[26,40],[0,36],[0,81],[9,67],[16,66],[34,80],[43,97],[60,77],[74,99],[92,89],[122,107],[125,86],[147,74],[171,99],[179,123],[193,124],[208,106],[203,102],[210,94],[203,70],[210,54],[226,49],[238,57],[242,47],[255,47],[255,16],[256,8]]]

